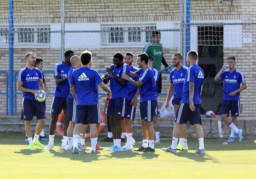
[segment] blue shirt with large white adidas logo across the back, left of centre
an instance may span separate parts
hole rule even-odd
[[[102,82],[99,73],[89,67],[75,69],[70,78],[70,84],[75,84],[77,105],[94,105],[98,102],[97,85]]]

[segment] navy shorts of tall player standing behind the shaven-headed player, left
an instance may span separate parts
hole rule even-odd
[[[60,114],[62,109],[67,109],[67,97],[53,97],[51,114]]]

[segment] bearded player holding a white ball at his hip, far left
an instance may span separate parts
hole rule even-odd
[[[44,104],[35,99],[36,92],[38,92],[39,89],[44,90],[43,76],[41,71],[34,67],[36,63],[35,53],[26,54],[26,61],[27,66],[20,70],[17,78],[17,90],[23,92],[21,120],[24,120],[25,123],[25,132],[28,137],[29,148],[34,148],[34,146],[44,148],[44,145],[42,145],[38,139],[44,127],[46,114]],[[36,114],[38,123],[32,141],[30,125],[34,114]]]

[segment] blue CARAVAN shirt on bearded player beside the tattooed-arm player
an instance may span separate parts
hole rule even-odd
[[[181,99],[182,98],[182,89],[183,84],[185,81],[185,76],[188,71],[188,67],[185,67],[182,65],[182,67],[177,71],[176,68],[174,68],[170,72],[170,83],[173,84],[173,98],[174,99]]]

